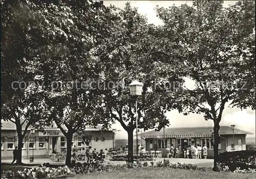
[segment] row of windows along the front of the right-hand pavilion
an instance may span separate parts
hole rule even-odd
[[[213,149],[214,148],[214,139],[213,138],[204,138],[204,139],[201,139],[201,142],[200,142],[200,139],[188,139],[186,140],[187,144],[194,144],[194,145],[201,145],[201,146],[204,146],[206,144],[206,147],[208,149]],[[150,149],[153,149],[153,142],[154,142],[154,139],[150,139]],[[164,148],[164,140],[163,139],[155,139],[155,143],[157,145],[157,148],[161,149],[161,148]],[[175,139],[172,139],[172,144],[175,144]],[[181,139],[178,139],[178,145],[181,144]],[[167,139],[165,139],[165,147],[167,147]],[[220,142],[219,142],[219,149],[221,149],[221,139],[220,139]]]

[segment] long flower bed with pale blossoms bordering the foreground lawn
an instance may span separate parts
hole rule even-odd
[[[82,173],[92,173],[92,172],[100,172],[100,171],[113,171],[113,170],[122,170],[128,168],[138,168],[138,167],[165,167],[165,168],[173,168],[173,169],[186,169],[186,170],[201,170],[201,171],[212,171],[210,168],[202,167],[198,168],[192,164],[170,164],[169,161],[164,163],[158,162],[154,165],[154,162],[151,162],[150,166],[147,166],[147,163],[144,162],[143,164],[139,162],[139,164],[123,164],[123,165],[100,165],[96,164],[87,164],[87,163],[76,163],[73,167],[68,168],[67,166],[64,167],[38,167],[38,168],[31,168],[31,169],[24,169],[19,171],[2,171],[2,178],[54,178],[54,177],[64,177],[70,176],[75,174],[82,174]],[[226,171],[230,172],[228,167],[226,166]],[[255,173],[255,169],[240,169],[237,168],[233,172],[236,173]]]

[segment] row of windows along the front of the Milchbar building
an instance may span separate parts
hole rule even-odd
[[[74,143],[74,140],[75,138],[73,137],[72,138],[72,147],[74,147],[75,143]],[[8,149],[14,149],[14,137],[12,138],[7,138],[7,148]],[[45,148],[45,137],[39,137],[38,139],[39,141],[39,148]],[[94,138],[94,141],[95,142],[98,142],[99,139],[96,137]],[[101,138],[100,139],[101,142],[104,142],[105,139],[104,138]],[[26,145],[25,145],[25,142],[26,142],[26,138],[23,139],[23,149],[26,149]],[[29,142],[29,148],[33,148],[35,147],[35,137],[29,137],[28,138],[28,142]],[[67,143],[67,140],[66,140],[66,137],[60,137],[60,147],[67,147],[66,146],[66,143]],[[77,146],[78,147],[82,147],[82,137],[77,137]],[[3,141],[3,138],[1,138],[1,149],[3,150],[4,149],[4,141]]]

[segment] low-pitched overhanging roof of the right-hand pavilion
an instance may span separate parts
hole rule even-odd
[[[164,135],[166,137],[174,137],[175,136],[188,136],[188,135],[193,135],[193,136],[199,136],[199,137],[207,137],[211,136],[213,132],[212,127],[180,127],[180,128],[171,128],[171,127],[166,127],[164,128]],[[231,130],[230,126],[221,126],[219,130],[220,135],[231,135],[233,132]],[[234,134],[252,134],[251,132],[240,130],[240,129],[234,129]],[[140,133],[138,136],[140,137],[145,137],[145,138],[150,138],[150,137],[163,137],[163,129],[160,131],[147,131]]]

